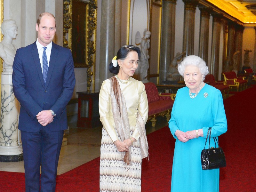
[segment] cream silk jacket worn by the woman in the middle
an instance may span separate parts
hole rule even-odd
[[[145,86],[141,81],[133,79],[132,77],[131,81],[127,84],[119,83],[119,85],[124,94],[130,127],[134,127],[132,137],[138,140],[140,134],[135,127],[137,121],[137,112],[140,113],[145,124],[148,120],[148,98],[145,91]],[[108,132],[111,140],[113,142],[118,140],[111,106],[109,79],[103,81],[101,85],[99,96],[99,112],[100,121]]]

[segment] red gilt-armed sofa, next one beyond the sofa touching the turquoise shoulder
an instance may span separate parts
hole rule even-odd
[[[224,81],[230,89],[236,88],[236,91],[243,91],[247,87],[247,80],[245,77],[237,77],[234,71],[223,72]]]

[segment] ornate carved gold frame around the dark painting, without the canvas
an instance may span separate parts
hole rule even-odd
[[[63,47],[72,51],[72,0],[63,1]],[[87,91],[94,82],[95,52],[96,52],[96,25],[97,25],[97,0],[89,0],[86,3],[85,26],[85,63],[75,63],[75,67],[87,68]],[[93,76],[93,77],[92,77]],[[92,89],[94,90],[94,84]]]

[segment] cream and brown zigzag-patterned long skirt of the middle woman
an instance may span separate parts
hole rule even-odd
[[[130,127],[131,135],[135,127]],[[119,138],[119,135],[116,131]],[[120,140],[120,138],[119,138]],[[131,146],[131,164],[129,170],[116,145],[105,128],[102,128],[100,147],[100,192],[140,192],[141,191],[141,152],[139,142]]]

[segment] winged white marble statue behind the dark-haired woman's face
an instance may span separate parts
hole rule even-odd
[[[148,63],[148,59],[149,59],[149,55],[148,55],[148,49],[150,47],[150,31],[148,31],[147,29],[144,30],[143,33],[143,37],[141,38],[140,36],[140,32],[138,31],[136,33],[136,38],[135,38],[135,43],[136,45],[140,44],[140,49],[141,49],[141,56],[140,56],[140,65],[139,65],[139,76],[140,76],[140,80],[143,83],[147,83],[148,79],[146,79],[146,77],[148,76],[148,68],[149,68],[149,63]]]

